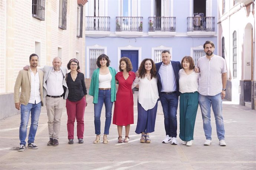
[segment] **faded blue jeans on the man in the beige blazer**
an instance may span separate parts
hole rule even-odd
[[[29,123],[29,116],[31,112],[31,125],[29,129],[29,140],[27,143],[33,143],[36,136],[38,119],[41,112],[42,103],[37,104],[28,103],[20,106],[20,145],[26,145],[27,124]]]

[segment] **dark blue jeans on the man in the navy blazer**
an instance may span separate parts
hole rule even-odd
[[[164,112],[164,128],[166,135],[177,137],[178,96],[161,94],[160,101]]]

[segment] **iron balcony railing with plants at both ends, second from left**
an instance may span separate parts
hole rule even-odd
[[[143,17],[116,17],[116,31],[142,31]]]

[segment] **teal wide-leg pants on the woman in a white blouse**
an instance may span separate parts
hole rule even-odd
[[[181,93],[180,95],[180,139],[193,140],[196,113],[198,108],[198,92]]]

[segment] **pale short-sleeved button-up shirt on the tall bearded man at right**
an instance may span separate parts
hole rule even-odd
[[[222,73],[227,72],[225,59],[214,55],[209,60],[206,56],[197,61],[200,68],[198,92],[205,96],[215,96],[222,92]]]

